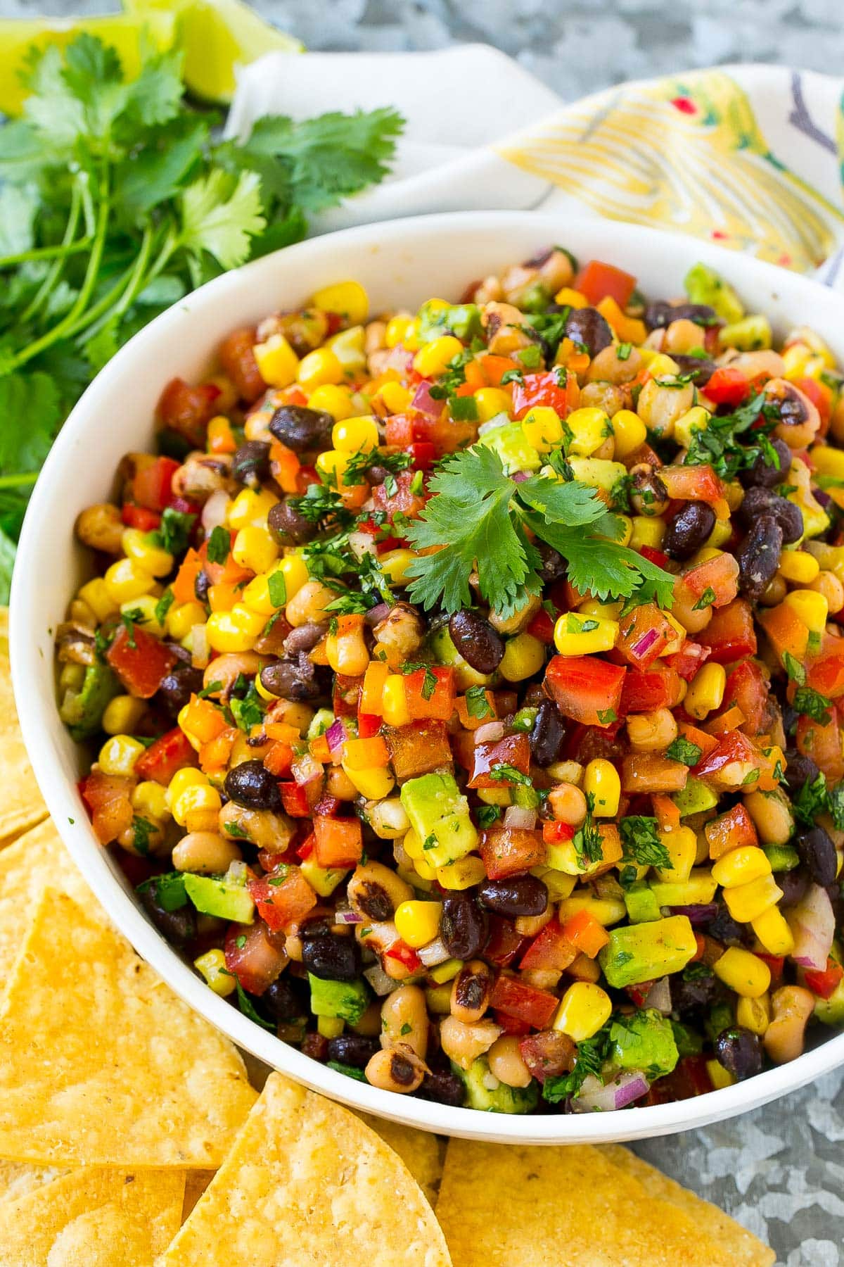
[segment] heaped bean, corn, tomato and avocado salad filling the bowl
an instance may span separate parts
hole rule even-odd
[[[76,532],[81,782],[209,987],[351,1077],[682,1098],[844,1021],[844,394],[553,248],[170,383]]]

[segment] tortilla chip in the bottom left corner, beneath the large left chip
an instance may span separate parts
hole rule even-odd
[[[71,1171],[0,1204],[3,1267],[153,1267],[178,1229],[182,1171]]]

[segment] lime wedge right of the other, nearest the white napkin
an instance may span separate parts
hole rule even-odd
[[[228,104],[235,89],[235,68],[263,53],[300,53],[302,46],[242,0],[124,0],[135,19],[153,14],[176,18],[176,42],[185,52],[185,85],[204,101]]]

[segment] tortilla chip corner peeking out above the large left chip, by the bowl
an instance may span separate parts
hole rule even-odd
[[[87,911],[105,912],[62,844],[52,818],[0,850],[0,996],[40,895],[47,887],[67,893]]]

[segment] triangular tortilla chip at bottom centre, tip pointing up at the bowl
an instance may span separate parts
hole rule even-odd
[[[272,1073],[161,1267],[450,1267],[391,1148],[330,1100]]]

